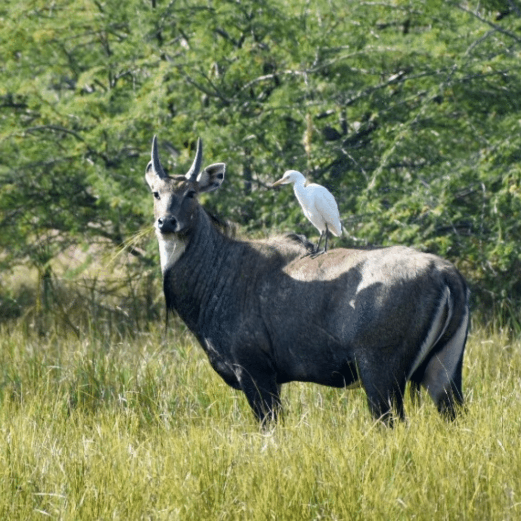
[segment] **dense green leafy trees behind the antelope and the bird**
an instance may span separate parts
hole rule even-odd
[[[336,195],[337,245],[438,253],[519,317],[518,0],[5,0],[0,269],[150,226],[154,133],[171,172],[199,135],[227,163],[203,202],[247,231],[314,233],[269,189],[299,169]]]

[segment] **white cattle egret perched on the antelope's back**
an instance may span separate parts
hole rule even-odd
[[[271,186],[276,187],[279,184],[293,183],[293,191],[304,215],[309,219],[311,224],[320,232],[317,249],[315,253],[319,253],[322,237],[326,235],[326,243],[324,252],[327,252],[327,232],[340,237],[342,234],[342,224],[340,222],[340,214],[338,212],[337,202],[334,200],[333,194],[322,187],[320,184],[310,183],[304,186],[306,178],[296,170],[288,170],[278,181]],[[323,253],[323,252],[320,252]]]

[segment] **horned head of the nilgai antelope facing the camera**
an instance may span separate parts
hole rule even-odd
[[[184,176],[167,176],[159,161],[157,137],[154,136],[145,177],[154,195],[155,228],[159,239],[189,231],[199,205],[197,196],[216,190],[224,181],[226,165],[215,163],[200,171],[202,158],[203,144],[198,139],[190,170]]]

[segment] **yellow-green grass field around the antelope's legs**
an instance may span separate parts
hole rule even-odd
[[[474,328],[453,424],[426,393],[389,429],[362,390],[292,383],[267,431],[178,323],[0,342],[0,519],[521,518],[520,339]]]

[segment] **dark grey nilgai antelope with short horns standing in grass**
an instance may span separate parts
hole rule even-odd
[[[392,424],[411,381],[454,418],[469,321],[456,268],[404,246],[313,258],[304,242],[232,239],[197,201],[220,187],[225,164],[201,170],[201,159],[198,141],[188,173],[167,176],[153,139],[146,180],[166,305],[256,417],[276,417],[280,385],[304,381],[361,385],[373,416]]]

